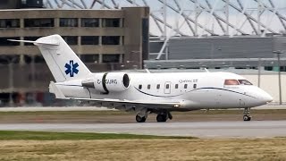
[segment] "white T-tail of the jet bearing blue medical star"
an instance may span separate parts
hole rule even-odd
[[[36,41],[9,40],[38,46],[56,82],[86,78],[91,73],[60,35],[38,38]]]

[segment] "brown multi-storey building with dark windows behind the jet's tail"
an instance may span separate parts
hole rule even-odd
[[[47,87],[54,80],[38,47],[7,39],[36,40],[59,34],[92,72],[141,69],[143,59],[147,59],[148,7],[55,10],[42,8],[42,1],[24,3],[0,3],[1,8],[10,8],[0,10],[3,102],[49,102]]]

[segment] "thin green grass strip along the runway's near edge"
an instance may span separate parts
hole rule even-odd
[[[154,135],[52,132],[52,131],[0,131],[0,140],[130,140],[130,139],[195,139],[193,137],[165,137]]]

